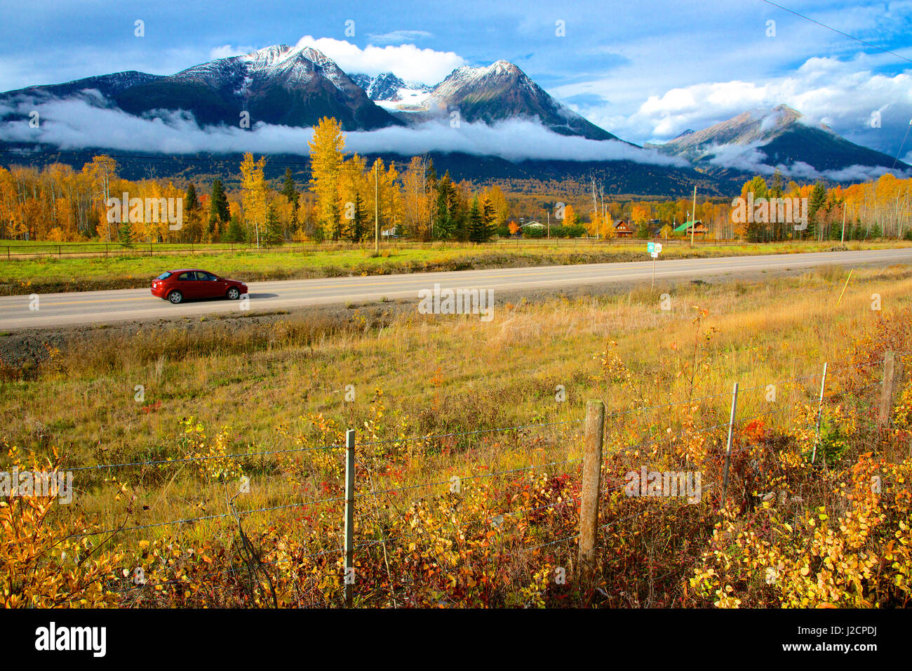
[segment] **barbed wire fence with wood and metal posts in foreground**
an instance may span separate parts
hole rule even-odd
[[[700,502],[702,498],[702,492],[711,491],[712,496],[710,497],[710,500],[715,504],[714,507],[722,509],[725,507],[726,500],[730,495],[729,487],[732,458],[741,456],[744,453],[753,454],[754,451],[760,449],[760,446],[751,444],[750,441],[747,441],[746,445],[739,446],[738,443],[744,443],[745,441],[741,439],[740,433],[736,433],[736,427],[740,427],[742,433],[745,427],[750,426],[751,423],[755,423],[762,418],[770,418],[772,415],[776,414],[791,415],[794,412],[792,405],[776,403],[775,390],[780,389],[786,385],[793,385],[794,389],[798,389],[803,385],[805,401],[807,402],[806,407],[809,407],[812,412],[815,410],[815,412],[813,412],[813,416],[811,417],[810,421],[808,421],[801,428],[807,431],[811,436],[813,446],[811,448],[810,461],[812,465],[817,464],[818,456],[820,456],[821,463],[819,467],[825,469],[828,467],[825,459],[825,451],[823,449],[820,449],[822,446],[821,421],[824,411],[824,404],[834,399],[834,397],[840,396],[845,392],[854,393],[859,397],[861,397],[861,394],[869,395],[870,393],[875,393],[876,398],[872,397],[869,400],[872,402],[872,405],[876,404],[876,424],[878,427],[888,427],[891,421],[890,414],[894,406],[896,394],[899,391],[903,377],[903,356],[912,357],[912,352],[886,351],[882,360],[855,362],[851,364],[845,364],[840,368],[829,367],[827,363],[824,363],[824,366],[820,372],[792,377],[776,383],[761,384],[747,388],[740,388],[738,383],[734,383],[731,393],[713,393],[696,398],[689,398],[684,401],[675,403],[653,404],[632,410],[619,410],[616,412],[606,413],[606,404],[604,400],[592,400],[586,404],[585,417],[559,422],[538,422],[526,425],[512,425],[492,429],[478,429],[473,431],[456,431],[442,434],[399,436],[396,438],[372,439],[364,440],[361,442],[358,442],[357,440],[357,432],[354,429],[348,429],[346,432],[346,441],[344,445],[331,443],[325,446],[302,446],[282,450],[250,451],[230,455],[219,454],[187,456],[174,459],[150,459],[147,461],[133,460],[109,464],[98,464],[94,466],[69,468],[68,470],[70,471],[78,472],[109,472],[118,469],[129,468],[181,467],[189,464],[200,464],[202,462],[207,462],[210,460],[238,460],[251,458],[262,459],[264,456],[288,456],[295,454],[315,453],[342,456],[344,458],[345,470],[343,487],[341,488],[342,490],[337,491],[337,493],[333,495],[326,496],[325,498],[307,498],[306,500],[296,500],[279,505],[239,509],[234,506],[233,501],[234,498],[238,497],[241,491],[235,493],[232,498],[226,488],[226,502],[228,504],[227,508],[229,509],[223,513],[212,513],[196,517],[182,517],[180,519],[171,519],[166,521],[150,522],[148,524],[132,525],[127,524],[127,520],[129,519],[128,516],[125,517],[123,523],[121,523],[119,526],[110,525],[109,528],[103,530],[75,534],[72,538],[75,540],[81,540],[85,538],[92,538],[97,540],[98,537],[104,537],[102,540],[98,541],[99,543],[103,544],[116,539],[119,535],[144,531],[148,529],[176,528],[180,530],[187,528],[188,525],[193,525],[199,522],[227,521],[231,524],[231,528],[239,530],[242,538],[246,540],[246,536],[244,536],[244,530],[241,528],[241,519],[244,517],[260,514],[271,514],[279,511],[288,511],[300,508],[321,508],[324,510],[331,510],[334,514],[339,516],[341,524],[339,525],[337,543],[332,542],[333,539],[326,540],[326,544],[329,547],[324,547],[313,552],[307,552],[307,549],[303,548],[302,550],[305,551],[295,555],[295,557],[279,557],[274,561],[265,561],[251,554],[249,540],[246,540],[244,545],[245,548],[247,548],[247,558],[244,563],[238,566],[229,565],[223,568],[215,569],[213,571],[207,571],[201,574],[197,574],[196,577],[214,578],[216,576],[225,575],[235,576],[242,573],[243,571],[250,571],[253,580],[254,573],[257,573],[257,571],[265,571],[266,567],[278,568],[282,565],[290,566],[292,564],[300,563],[300,561],[305,559],[325,561],[329,571],[337,571],[338,577],[343,586],[342,592],[344,593],[344,603],[350,606],[355,601],[356,587],[358,585],[356,576],[357,553],[363,553],[366,550],[370,549],[381,550],[383,561],[387,563],[387,571],[389,571],[388,558],[390,546],[395,545],[396,548],[400,548],[401,543],[414,540],[420,541],[423,538],[427,537],[426,530],[422,529],[420,524],[413,525],[410,531],[406,532],[400,528],[392,529],[392,524],[389,523],[388,520],[387,529],[379,529],[378,531],[377,529],[374,529],[377,532],[374,534],[373,538],[360,538],[357,540],[356,511],[363,513],[370,507],[371,504],[373,504],[375,509],[379,511],[379,508],[381,505],[383,505],[389,508],[390,511],[395,512],[396,520],[401,520],[404,517],[404,513],[402,512],[401,508],[397,508],[393,503],[393,500],[396,497],[404,496],[406,499],[404,505],[413,508],[416,504],[424,501],[429,496],[428,492],[434,492],[440,488],[443,488],[444,491],[448,494],[459,494],[461,492],[462,486],[469,483],[490,484],[495,480],[503,481],[509,477],[526,477],[537,473],[547,477],[578,477],[580,483],[579,493],[574,496],[570,496],[566,492],[562,491],[556,500],[547,501],[544,503],[533,502],[533,505],[530,507],[523,506],[520,508],[505,509],[503,511],[495,512],[492,514],[486,514],[482,517],[482,519],[475,519],[474,521],[481,521],[485,526],[490,527],[496,535],[503,531],[504,522],[508,519],[533,519],[535,516],[552,514],[556,510],[567,510],[569,519],[573,521],[575,514],[577,526],[576,533],[562,536],[561,538],[557,539],[535,538],[530,535],[528,537],[529,542],[527,542],[522,548],[522,553],[523,555],[528,555],[530,553],[544,550],[563,553],[563,555],[568,559],[568,563],[577,567],[580,579],[582,581],[586,581],[596,568],[597,550],[600,547],[600,534],[602,534],[607,529],[616,527],[621,522],[627,521],[629,519],[636,519],[648,511],[647,507],[643,507],[642,509],[623,517],[616,519],[604,519],[602,511],[599,509],[600,502],[603,500],[607,501],[608,498],[612,495],[618,495],[621,493],[622,489],[628,488],[627,482],[615,481],[612,479],[612,477],[609,477],[610,471],[607,466],[610,460],[617,459],[620,456],[639,456],[640,453],[643,452],[644,455],[642,457],[639,457],[640,466],[646,467],[646,459],[644,457],[646,456],[645,452],[648,450],[648,448],[656,449],[658,446],[670,446],[676,441],[692,438],[698,435],[710,436],[718,443],[721,452],[717,450],[714,454],[705,457],[700,462],[686,462],[685,467],[700,467],[702,469],[707,463],[711,461],[714,465],[720,466],[720,472],[714,473],[713,475],[715,477],[709,482],[700,482],[700,494],[697,497],[698,500],[690,502]],[[860,372],[863,372],[865,370],[869,371],[867,374],[867,380],[870,380],[871,377],[874,376],[876,368],[878,367],[882,367],[882,375],[879,381],[870,382],[863,385],[844,385],[838,388],[833,385],[834,380],[841,380],[843,377],[845,377],[845,381],[849,381],[849,378],[852,375],[858,375]],[[817,391],[815,385],[818,380],[820,381],[819,393],[814,393],[814,395],[811,396],[808,392]],[[828,382],[831,383],[830,387],[827,386]],[[813,390],[808,388],[808,385],[811,384],[814,384]],[[879,387],[879,394],[876,393],[877,387]],[[743,402],[745,400],[746,394],[757,392],[765,393],[762,403],[772,407],[762,412],[751,413],[747,416],[739,416],[739,401]],[[725,419],[725,421],[718,421],[715,424],[700,427],[685,425],[678,432],[673,432],[669,426],[668,429],[666,429],[664,435],[646,435],[640,437],[634,442],[618,442],[617,435],[611,435],[606,439],[606,428],[623,426],[623,423],[631,414],[643,415],[648,413],[656,413],[658,411],[668,412],[673,408],[680,407],[695,408],[700,404],[708,401],[718,402],[718,400],[726,396],[729,396],[731,398],[731,405],[730,413],[728,414],[728,417]],[[750,405],[742,404],[741,407],[757,407],[760,403],[760,401],[754,399],[753,403]],[[668,419],[668,417],[666,417],[666,419]],[[793,421],[793,416],[789,416],[789,420]],[[583,429],[582,435],[579,434],[580,428]],[[395,488],[384,488],[378,486],[375,483],[374,476],[371,472],[370,467],[368,466],[368,463],[363,458],[368,454],[368,448],[376,449],[381,446],[405,445],[417,447],[419,453],[422,455],[440,456],[442,454],[440,446],[443,444],[443,441],[446,440],[466,438],[476,440],[482,438],[482,436],[500,436],[506,435],[509,432],[513,432],[514,435],[519,435],[519,432],[527,432],[529,435],[531,435],[534,430],[541,431],[543,429],[552,429],[555,431],[559,430],[561,432],[576,432],[572,436],[568,436],[566,433],[563,433],[555,442],[565,440],[579,442],[579,439],[582,438],[582,454],[579,456],[571,456],[569,458],[562,459],[544,458],[540,461],[540,463],[534,463],[533,459],[532,463],[520,467],[499,468],[496,467],[496,464],[492,463],[487,469],[482,472],[475,472],[470,475],[461,476],[453,475],[451,477],[435,479],[428,482],[409,484]],[[722,445],[724,445],[724,448],[721,447]],[[772,450],[768,451],[772,453]],[[573,466],[573,468],[571,468],[571,466]],[[357,481],[356,474],[358,471],[362,476],[362,480],[364,479],[364,475],[367,474],[367,488],[363,487],[363,482]],[[358,488],[359,484],[362,485],[361,488]],[[640,483],[640,485],[642,486],[643,483]],[[624,493],[629,496],[629,493],[627,491]],[[675,494],[677,496],[671,497],[665,497],[663,494],[663,503],[667,503],[672,500],[679,501],[679,492],[675,492]],[[416,497],[416,495],[418,496]],[[435,495],[430,494],[430,496],[433,497]],[[634,496],[643,495],[639,494]],[[381,525],[375,526],[379,527]],[[391,533],[390,531],[393,532]],[[362,536],[364,536],[364,533],[365,532],[362,529]],[[574,543],[576,546],[575,552],[573,550]],[[95,543],[93,543],[93,547],[94,546]],[[440,556],[437,557],[437,561],[440,567],[445,567],[448,564],[451,564],[451,562],[440,558]],[[252,562],[255,565],[252,565]],[[147,592],[150,590],[150,588],[154,588],[157,585],[167,585],[171,582],[179,583],[181,565],[178,563],[168,568],[175,574],[174,578],[162,580],[155,583],[154,585],[144,580],[142,571],[139,571],[139,574],[137,574],[137,571],[134,570],[132,575],[125,575],[127,584],[120,585],[119,587],[121,589],[117,589],[115,591],[125,596],[132,594],[136,598],[139,598],[143,592]],[[294,567],[291,566],[291,568]],[[126,572],[129,571],[125,570],[125,573]],[[269,584],[271,586],[272,582],[270,581]],[[395,605],[396,593],[391,577],[389,580],[389,590],[390,596]]]

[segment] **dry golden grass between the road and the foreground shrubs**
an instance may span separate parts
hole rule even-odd
[[[268,328],[229,331],[213,322],[112,340],[102,331],[52,357],[30,379],[3,383],[0,411],[16,421],[4,426],[2,437],[38,453],[58,446],[69,467],[181,458],[180,420],[191,416],[207,435],[230,426],[230,452],[318,446],[320,440],[339,440],[346,427],[364,436],[364,423],[377,407],[375,389],[382,390],[385,406],[382,419],[375,418],[380,438],[575,420],[591,397],[605,399],[612,412],[719,394],[699,404],[705,423],[716,424],[727,421],[733,382],[749,390],[741,394],[739,415],[751,416],[769,407],[767,384],[813,375],[822,362],[843,358],[851,334],[879,314],[871,309],[872,293],[881,296],[887,313],[908,306],[907,267],[855,272],[837,309],[845,275],[840,268],[824,268],[756,284],[638,288],[616,297],[523,302],[499,306],[488,323],[416,312],[376,326],[356,313],[345,324],[289,318]],[[660,309],[665,292],[669,310]],[[698,326],[700,309],[706,316]],[[715,332],[707,339],[710,330]],[[625,363],[629,384],[606,383],[600,362],[606,349],[617,351]],[[134,401],[137,384],[145,387],[142,404]],[[357,394],[350,404],[343,398],[349,384]],[[557,385],[565,386],[565,403],[554,400]],[[779,400],[808,403],[816,385],[814,379],[786,385]],[[322,434],[314,428],[314,417],[321,415],[333,425]],[[677,430],[680,422],[668,409],[627,414],[609,436],[635,439],[650,426]],[[530,456],[537,463],[574,458],[578,433],[578,425],[568,425],[533,430],[523,441],[513,434],[457,437],[447,444],[446,456],[403,457],[405,472],[397,472],[395,481],[447,480],[480,465],[520,467]],[[513,449],[539,434],[532,454]],[[247,460],[244,466],[256,482],[244,498],[246,509],[283,505],[303,494],[338,495],[334,473],[339,473],[315,465],[308,453],[297,483],[280,474],[283,465],[276,457]],[[228,509],[225,486],[197,477],[192,465],[80,473],[78,510],[98,512],[107,520],[104,526]],[[125,516],[124,502],[113,498],[117,489],[103,481],[111,475],[130,482],[139,496],[130,515]],[[375,488],[383,488],[387,476],[375,477]],[[188,531],[200,537],[208,532],[206,525]]]

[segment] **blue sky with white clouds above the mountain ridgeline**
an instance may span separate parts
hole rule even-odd
[[[779,4],[912,58],[912,0]],[[134,36],[137,20],[145,37]],[[565,37],[555,34],[558,21]],[[461,64],[510,60],[591,121],[637,143],[784,102],[896,155],[912,118],[912,63],[761,0],[37,0],[4,3],[0,26],[0,90],[125,69],[171,74],[306,37],[349,72],[391,69],[430,84]],[[879,128],[870,123],[875,111]],[[907,141],[903,155],[909,150]]]

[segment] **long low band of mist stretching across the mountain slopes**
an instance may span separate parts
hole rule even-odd
[[[154,119],[99,108],[97,92],[70,100],[16,100],[15,121],[0,123],[0,141],[47,143],[62,150],[98,147],[125,152],[308,152],[313,131],[258,123],[250,131],[235,127],[201,128],[186,112],[160,111]],[[38,110],[41,125],[28,125],[28,112]],[[463,123],[451,128],[430,121],[417,128],[390,127],[347,133],[347,151],[395,152],[404,156],[422,152],[465,152],[496,155],[510,161],[524,159],[564,161],[627,160],[635,163],[686,167],[683,159],[642,150],[623,142],[597,142],[566,137],[529,120],[503,121],[492,126]]]

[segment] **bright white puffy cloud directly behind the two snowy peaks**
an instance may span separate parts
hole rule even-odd
[[[398,47],[368,45],[362,49],[346,40],[307,35],[301,37],[296,46],[319,49],[348,74],[363,72],[376,76],[381,72],[392,72],[400,79],[422,84],[436,84],[454,69],[466,64],[464,58],[452,51],[421,49],[411,44]]]

